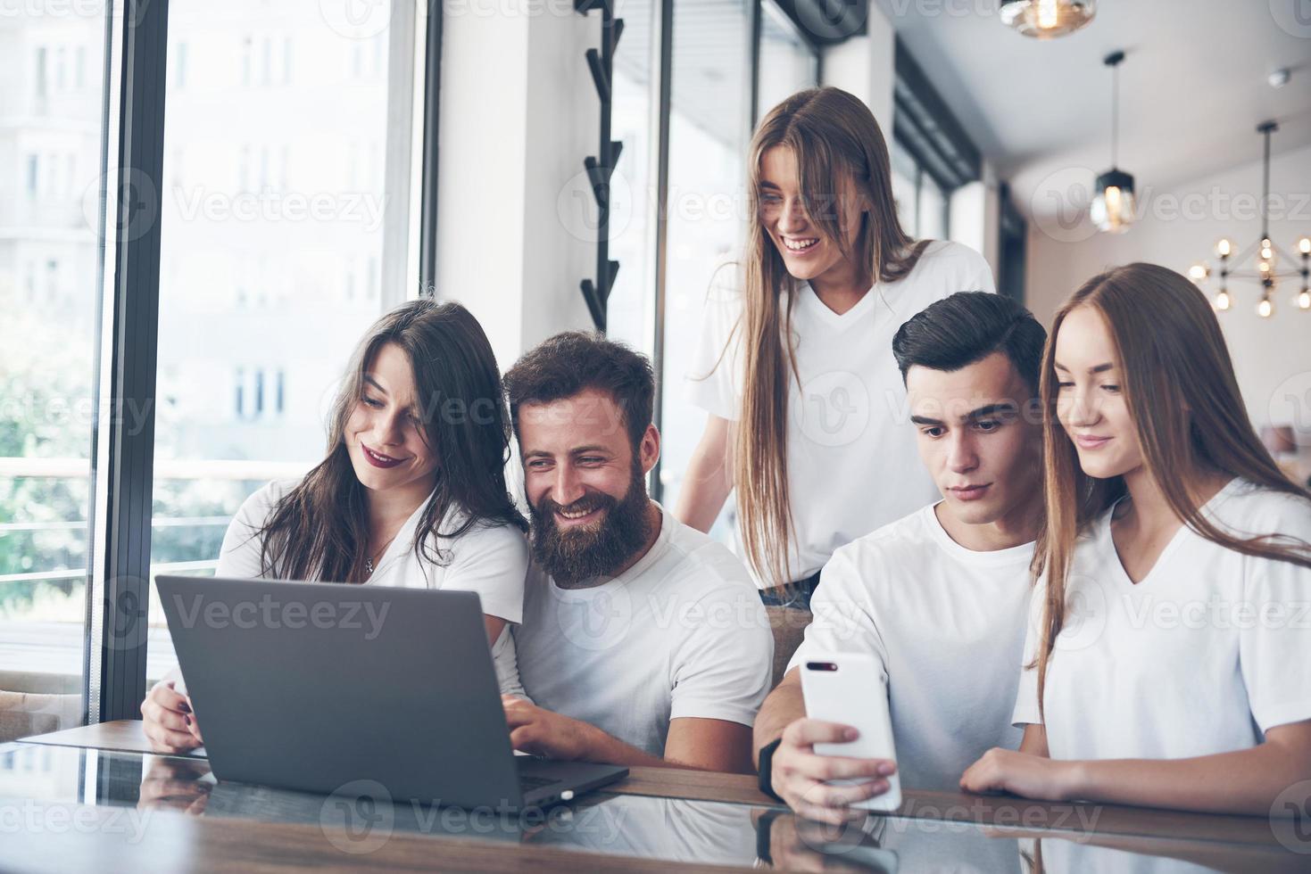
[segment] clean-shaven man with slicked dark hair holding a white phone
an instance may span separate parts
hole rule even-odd
[[[943,499],[834,553],[814,618],[755,725],[760,782],[798,812],[839,822],[888,790],[893,763],[818,756],[846,726],[806,718],[797,666],[821,651],[880,664],[895,769],[911,789],[956,790],[1011,726],[1042,520],[1038,371],[1046,332],[1012,300],[960,292],[901,326],[893,354],[919,453]],[[871,484],[877,487],[877,484]],[[851,785],[825,781],[846,777]]]

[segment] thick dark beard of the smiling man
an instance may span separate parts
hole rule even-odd
[[[591,577],[614,577],[638,549],[646,545],[652,520],[641,465],[633,463],[633,478],[623,501],[604,491],[587,491],[568,507],[551,498],[530,504],[532,516],[532,557],[555,580],[577,586]],[[602,510],[600,522],[560,528],[556,511]]]

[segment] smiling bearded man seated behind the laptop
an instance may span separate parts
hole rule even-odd
[[[523,355],[505,385],[534,558],[514,628],[531,701],[505,698],[511,743],[750,772],[773,637],[742,562],[646,494],[659,457],[650,364],[570,332]]]

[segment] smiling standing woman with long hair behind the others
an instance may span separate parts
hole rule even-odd
[[[832,552],[935,501],[907,423],[891,338],[957,291],[992,291],[975,252],[915,242],[893,200],[888,144],[836,88],[793,94],[747,156],[742,263],[716,273],[688,381],[709,413],[675,515],[708,531],[737,489],[762,588],[800,604]]]

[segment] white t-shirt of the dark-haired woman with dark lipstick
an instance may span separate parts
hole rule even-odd
[[[296,480],[274,481],[245,499],[223,537],[215,577],[264,577],[260,573],[261,541],[256,533],[264,527],[277,502],[296,485]],[[448,561],[444,565],[434,563],[426,556],[420,558],[414,554],[414,533],[426,506],[427,501],[405,520],[367,584],[477,592],[485,615],[510,624],[520,621],[523,578],[528,567],[528,542],[523,532],[510,525],[475,525],[454,540],[439,537],[435,544],[427,544],[426,550],[430,554],[435,546]],[[452,507],[438,529],[452,531],[461,520],[460,511]],[[492,647],[492,655],[501,691],[522,694],[509,625]],[[397,670],[405,671],[409,667],[397,666]]]

